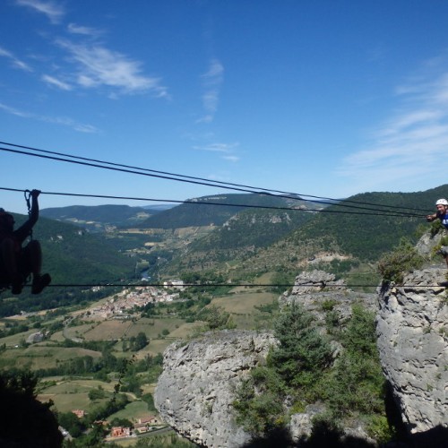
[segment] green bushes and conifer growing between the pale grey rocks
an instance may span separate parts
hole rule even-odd
[[[385,417],[374,313],[352,307],[345,328],[333,332],[343,346],[334,363],[329,341],[303,306],[284,310],[274,335],[280,343],[271,349],[266,365],[254,368],[237,390],[238,425],[252,435],[269,435],[284,427],[289,415],[321,401],[327,410],[316,419],[314,432],[319,431],[319,421],[336,428],[346,418],[362,418],[377,440],[392,434]]]

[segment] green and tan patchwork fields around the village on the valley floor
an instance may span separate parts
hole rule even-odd
[[[260,281],[262,283],[269,282],[269,275]],[[219,306],[231,314],[237,328],[255,329],[261,319],[269,318],[265,313],[263,314],[256,309],[255,306],[271,305],[277,299],[278,294],[263,292],[263,287],[256,289],[236,287],[226,296],[213,297],[209,306]],[[104,302],[104,299],[102,302]],[[92,309],[96,305],[90,304],[89,307]],[[62,346],[61,342],[65,340],[85,341],[86,343],[116,340],[110,351],[113,357],[135,357],[137,359],[143,359],[147,355],[155,357],[159,353],[163,353],[168,345],[175,340],[192,337],[194,333],[201,331],[205,327],[203,322],[186,323],[185,319],[169,313],[170,310],[167,308],[166,315],[154,318],[142,318],[139,314],[134,314],[130,319],[83,321],[81,317],[82,311],[78,309],[72,313],[73,318],[76,318],[76,320],[72,320],[63,330],[60,330],[63,317],[59,316],[56,319],[49,317],[46,321],[45,316],[43,316],[41,328],[45,330],[49,328],[48,323],[51,323],[56,325],[56,331],[52,332],[47,340],[34,344],[27,344],[26,340],[31,333],[39,332],[40,327],[0,339],[0,346],[4,344],[5,347],[0,358],[0,367],[25,367],[31,370],[38,370],[60,366],[61,363],[75,358],[89,356],[93,359],[99,359],[103,356],[100,351],[92,349]],[[65,314],[65,319],[66,315],[69,315],[69,313]],[[20,320],[15,319],[17,324],[26,323],[31,327],[36,322],[36,317],[30,318],[30,321],[27,321],[23,316],[17,317],[20,317]],[[14,319],[9,320],[8,325],[14,324],[13,321]],[[6,328],[5,322],[2,322],[4,328]],[[74,324],[76,322],[78,324]],[[149,340],[148,345],[137,352],[131,351],[129,349],[130,338],[137,338],[141,332]],[[159,372],[157,368],[159,367],[156,367],[155,375],[149,375],[146,371],[136,375],[136,378],[143,379],[143,383],[140,386],[142,393],[154,392],[155,380]],[[114,375],[116,376],[117,373],[109,376],[113,377]],[[40,383],[39,400],[53,401],[55,408],[60,412],[70,412],[73,409],[84,409],[89,412],[89,409],[94,409],[108,401],[114,392],[115,386],[115,380],[110,383],[99,381],[99,379],[93,379],[93,374],[91,373],[85,376],[45,377]],[[90,401],[89,392],[99,387],[106,392],[106,396],[100,400]],[[109,420],[114,417],[134,420],[145,415],[154,414],[153,410],[148,409],[146,402],[137,399],[134,392],[125,393],[132,402],[126,405],[125,409],[110,416]]]

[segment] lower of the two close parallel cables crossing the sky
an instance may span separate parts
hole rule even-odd
[[[104,166],[104,165],[99,165],[97,163],[91,163],[91,162],[85,162],[85,161],[79,161],[79,160],[62,159],[62,158],[55,157],[55,156],[47,156],[47,155],[43,155],[43,154],[33,154],[31,152],[12,150],[12,149],[9,149],[9,148],[2,148],[2,147],[0,147],[0,151],[7,151],[7,152],[13,152],[13,153],[16,153],[16,154],[22,154],[22,155],[28,155],[28,156],[33,156],[33,157],[39,157],[41,159],[53,159],[53,160],[58,160],[58,161],[65,161],[65,162],[73,163],[73,164],[77,164],[77,165],[84,165],[84,166],[93,167],[93,168],[104,168],[104,169],[108,169],[108,170],[112,170],[112,171],[125,172],[125,173],[140,175],[140,176],[146,176],[146,177],[157,177],[157,178],[163,178],[163,179],[168,179],[168,180],[175,180],[177,182],[185,182],[185,183],[195,184],[195,185],[207,185],[207,186],[215,186],[215,187],[217,186],[219,188],[225,188],[225,189],[240,191],[240,192],[244,192],[244,193],[262,194],[262,195],[267,195],[267,196],[271,196],[271,197],[299,200],[298,198],[293,198],[293,197],[291,197],[289,195],[270,194],[270,193],[266,193],[266,192],[257,192],[257,191],[248,190],[248,189],[244,189],[244,188],[238,188],[238,187],[226,187],[226,186],[221,186],[221,185],[213,185],[213,184],[206,183],[206,182],[200,182],[200,181],[194,181],[194,180],[187,180],[187,179],[181,179],[181,178],[175,178],[175,177],[168,177],[168,176],[144,173],[144,172],[135,171],[135,170],[127,169],[127,168],[107,167],[107,166]],[[302,200],[302,199],[300,199],[300,200]],[[305,202],[315,202],[315,201],[309,201],[309,200],[302,200],[302,201],[305,201]],[[200,203],[200,202],[194,202],[194,203]],[[366,210],[366,211],[382,211],[382,212],[384,211],[384,210],[381,210],[381,209],[373,209],[373,208],[370,208],[370,207],[359,207],[359,206],[356,206],[356,205],[348,205],[348,204],[345,204],[345,203],[333,203],[333,202],[319,202],[319,203],[326,203],[326,204],[329,204],[329,205],[340,206],[340,207],[345,207],[345,208],[352,208],[352,209],[360,209],[360,210]],[[359,202],[359,203],[362,203],[362,202]],[[379,205],[379,206],[382,206],[382,205]],[[392,205],[388,206],[388,207],[392,207]],[[402,207],[402,208],[404,208],[404,207]],[[289,210],[296,210],[296,209],[289,209]],[[415,210],[415,209],[406,209],[406,210]],[[388,215],[388,216],[406,216],[406,217],[409,217],[409,216],[412,216],[412,217],[422,217],[423,216],[423,215],[418,215],[418,214],[404,213],[402,211],[390,211],[389,210],[387,212],[391,213],[391,215]]]

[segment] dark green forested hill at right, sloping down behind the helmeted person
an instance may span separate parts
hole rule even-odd
[[[429,228],[426,214],[435,211],[435,201],[441,197],[448,197],[448,185],[417,193],[366,193],[351,196],[346,202],[340,202],[340,205],[332,205],[323,212],[315,213],[312,220],[294,229],[286,237],[235,263],[237,271],[240,274],[245,271],[278,270],[292,273],[314,269],[319,265],[320,256],[329,253],[347,256],[347,261],[323,262],[320,264],[323,269],[342,269],[344,263],[346,269],[357,263],[373,266],[383,254],[400,243],[401,237],[408,238],[412,243],[417,242],[421,231]],[[343,207],[344,203],[351,207],[364,207],[365,210]],[[382,208],[381,205],[390,207]],[[419,216],[383,216],[384,212],[367,208],[409,211]]]

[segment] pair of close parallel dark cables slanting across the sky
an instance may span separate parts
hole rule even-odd
[[[173,181],[177,181],[177,182],[185,182],[185,183],[191,183],[191,184],[196,184],[196,185],[214,186],[214,187],[218,187],[218,188],[240,191],[240,192],[244,192],[244,193],[264,194],[264,195],[268,195],[268,196],[280,197],[280,198],[285,198],[285,199],[289,199],[289,200],[297,200],[297,201],[303,201],[303,202],[317,202],[317,203],[324,203],[324,204],[328,204],[328,205],[340,206],[340,207],[345,207],[345,208],[356,208],[356,209],[361,208],[363,210],[388,211],[393,214],[400,214],[400,212],[399,211],[391,211],[391,210],[387,210],[387,209],[393,208],[393,209],[403,209],[403,210],[412,210],[412,211],[424,211],[424,210],[417,209],[417,208],[409,209],[409,207],[385,205],[385,204],[378,204],[378,203],[373,203],[373,202],[358,202],[358,201],[353,201],[353,200],[340,200],[340,199],[334,199],[334,198],[328,198],[328,197],[322,197],[322,196],[314,196],[314,195],[310,195],[310,194],[289,193],[289,192],[284,192],[284,191],[280,191],[280,190],[272,190],[272,189],[267,189],[267,188],[263,188],[263,187],[255,187],[255,186],[250,186],[250,185],[232,184],[232,183],[208,180],[208,179],[204,179],[202,177],[192,177],[192,176],[168,173],[166,171],[158,171],[158,170],[148,169],[148,168],[132,167],[129,165],[108,162],[105,160],[83,158],[83,157],[73,156],[71,154],[66,154],[66,153],[62,153],[62,152],[39,150],[37,148],[17,145],[14,143],[8,143],[8,142],[0,142],[0,143],[7,144],[7,145],[13,146],[13,147],[22,148],[22,149],[29,149],[31,151],[39,151],[39,152],[41,152],[41,154],[36,154],[36,153],[32,153],[32,152],[27,152],[27,151],[18,151],[18,150],[13,150],[13,149],[9,149],[9,148],[0,148],[0,151],[8,151],[8,152],[13,152],[13,153],[17,153],[17,154],[27,155],[27,156],[39,157],[39,158],[43,158],[43,159],[54,159],[54,160],[58,160],[58,161],[65,161],[68,163],[85,165],[85,166],[90,166],[90,167],[94,167],[94,168],[104,168],[104,169],[110,169],[110,170],[115,170],[115,171],[127,172],[130,174],[136,174],[136,175],[141,175],[141,176],[159,177],[159,178],[164,178],[167,180],[173,180]],[[43,155],[43,153],[52,154],[52,155],[51,156]],[[68,157],[70,159],[63,159],[61,157],[55,157],[55,156],[64,156],[64,157]],[[82,160],[82,161],[80,161],[80,160]],[[109,166],[106,166],[106,165],[109,165]],[[136,170],[138,170],[138,171],[136,171]],[[280,193],[280,194],[272,194],[269,192]],[[294,197],[294,196],[296,196],[296,197]],[[314,199],[305,199],[305,197],[312,197]],[[325,202],[325,201],[327,201],[327,202]],[[358,204],[358,205],[364,205],[364,207],[349,205],[351,203]],[[366,205],[374,205],[375,207],[382,207],[383,209],[386,209],[386,210],[369,209],[369,208],[365,207]],[[427,213],[426,210],[424,212]],[[421,216],[421,215],[414,215],[414,216]]]

